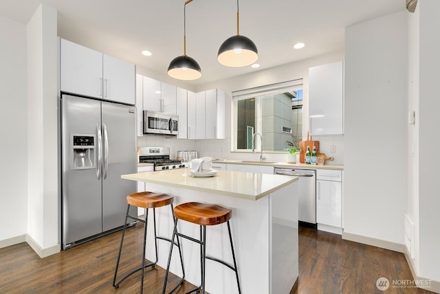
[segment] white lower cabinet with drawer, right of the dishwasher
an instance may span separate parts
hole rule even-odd
[[[316,222],[318,230],[342,233],[342,171],[316,171]]]

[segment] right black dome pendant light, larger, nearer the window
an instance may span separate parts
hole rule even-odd
[[[221,44],[217,61],[230,67],[243,67],[258,59],[259,53],[254,42],[239,34],[239,0],[236,0],[236,36],[231,36]]]

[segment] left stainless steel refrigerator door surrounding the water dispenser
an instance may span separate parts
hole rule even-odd
[[[94,144],[97,147],[101,114],[100,101],[69,95],[63,95],[61,109],[63,158],[61,207],[63,249],[65,249],[67,244],[102,232],[102,190],[97,173],[98,154],[95,158],[91,158],[89,166],[74,166],[77,161],[73,156],[75,152],[78,155],[78,149],[75,149],[72,142],[73,134],[88,138],[94,136]],[[97,153],[96,147],[94,152]],[[78,160],[78,157],[76,159]]]

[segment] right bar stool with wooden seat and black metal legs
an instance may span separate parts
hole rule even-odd
[[[232,271],[235,272],[236,284],[238,286],[239,293],[241,293],[240,282],[239,282],[239,272],[236,267],[234,245],[232,244],[232,234],[231,234],[231,228],[230,228],[230,224],[229,224],[229,220],[231,218],[231,215],[232,215],[231,209],[226,209],[225,207],[221,207],[216,204],[187,202],[187,203],[179,204],[179,205],[177,205],[177,207],[175,207],[174,216],[175,216],[176,220],[174,222],[174,231],[173,231],[173,237],[171,238],[171,242],[173,242],[175,236],[177,236],[177,238],[182,237],[182,238],[188,239],[192,242],[196,242],[196,243],[200,244],[201,285],[198,288],[195,288],[194,290],[192,290],[188,293],[192,293],[192,292],[196,292],[196,291],[197,292],[201,291],[201,293],[203,293],[203,294],[205,293],[205,273],[206,273],[205,262],[206,262],[206,259],[220,262],[221,264],[228,266],[228,268],[232,269]],[[200,226],[200,240],[197,240],[195,238],[191,238],[188,235],[184,235],[182,233],[177,232],[177,220],[186,220],[187,222],[192,222],[193,224],[199,224],[199,226]],[[223,222],[227,222],[227,224],[228,224],[228,233],[229,233],[229,240],[230,240],[230,244],[231,244],[232,260],[234,260],[234,266],[227,264],[223,260],[219,260],[217,258],[213,258],[211,256],[206,255],[206,226],[223,224]],[[168,256],[168,265],[166,266],[164,288],[162,290],[163,294],[166,291],[166,282],[168,280],[168,272],[170,269],[170,261],[171,261],[172,253],[173,253],[173,246],[170,246],[170,254]],[[176,290],[176,288],[174,288],[173,291],[171,291],[170,293],[173,293]]]

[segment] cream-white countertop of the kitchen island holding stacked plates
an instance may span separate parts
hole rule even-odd
[[[173,169],[167,171],[126,174],[122,175],[121,178],[178,187],[181,189],[206,191],[209,193],[248,200],[259,200],[260,198],[298,180],[298,177],[294,176],[245,173],[241,171],[219,171],[217,176],[209,178],[193,178],[189,175],[182,176],[184,172],[184,169]]]

